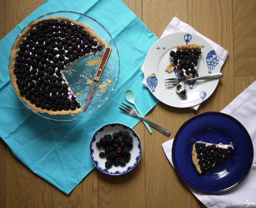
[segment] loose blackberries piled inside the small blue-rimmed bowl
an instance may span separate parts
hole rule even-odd
[[[97,147],[102,147],[104,152],[100,152],[99,156],[106,158],[106,169],[114,166],[124,166],[130,161],[130,149],[133,147],[132,136],[128,131],[119,131],[111,134],[106,134],[96,142]]]

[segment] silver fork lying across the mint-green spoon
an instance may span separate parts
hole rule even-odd
[[[142,120],[144,120],[145,122],[147,122],[150,126],[154,127],[156,130],[162,132],[164,135],[166,135],[166,136],[170,136],[170,135],[171,135],[171,132],[170,132],[169,130],[167,130],[167,129],[163,128],[162,126],[159,126],[159,125],[157,125],[157,124],[155,124],[155,123],[153,123],[153,122],[147,120],[146,118],[142,118],[139,114],[137,114],[136,110],[134,110],[132,107],[130,107],[130,106],[124,104],[124,103],[122,103],[122,104],[123,104],[124,106],[126,106],[127,108],[124,107],[124,106],[122,106],[122,105],[120,105],[120,106],[122,106],[123,108],[125,108],[127,111],[124,110],[124,109],[122,109],[122,108],[119,108],[119,109],[122,110],[122,112],[124,112],[125,114],[127,114],[127,115],[129,115],[129,116],[138,116],[138,117],[140,117]]]

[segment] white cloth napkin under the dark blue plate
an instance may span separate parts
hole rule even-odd
[[[221,112],[236,118],[250,134],[254,146],[252,168],[241,184],[224,193],[207,195],[189,188],[205,206],[210,208],[256,207],[256,81]],[[172,142],[173,139],[166,141],[162,147],[173,166]]]

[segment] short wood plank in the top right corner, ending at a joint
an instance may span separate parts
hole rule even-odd
[[[233,1],[233,17],[235,76],[256,76],[256,1]]]

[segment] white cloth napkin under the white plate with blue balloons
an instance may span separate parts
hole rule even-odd
[[[169,23],[169,25],[166,27],[166,29],[164,30],[164,33],[162,34],[161,37],[164,37],[165,35],[168,35],[170,33],[175,33],[175,32],[194,33],[194,34],[199,35],[202,38],[206,39],[206,41],[208,41],[212,45],[212,47],[214,48],[216,54],[218,55],[218,58],[219,58],[219,61],[220,61],[219,62],[220,63],[220,69],[222,68],[222,66],[224,65],[224,62],[226,61],[226,59],[228,57],[228,51],[226,51],[220,45],[218,45],[217,43],[214,43],[213,41],[211,41],[207,37],[204,37],[204,35],[198,33],[198,31],[196,31],[193,27],[191,27],[190,25],[180,21],[176,17],[174,17],[172,19],[172,21]],[[142,72],[144,72],[144,64],[142,65],[140,70]],[[144,80],[142,82],[142,85],[147,86],[145,78],[144,78]],[[200,106],[200,104],[198,104],[196,106],[192,106],[190,108],[193,109],[193,110],[198,110],[199,106]]]

